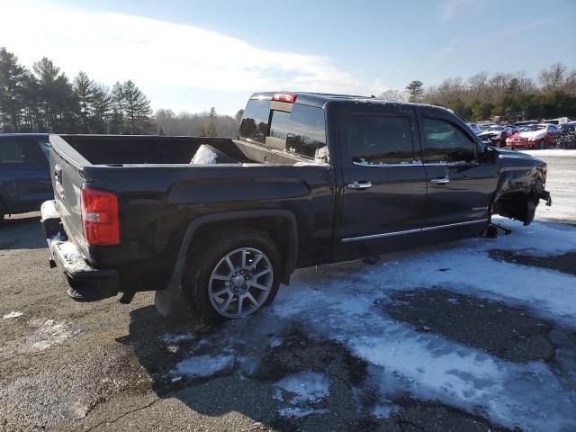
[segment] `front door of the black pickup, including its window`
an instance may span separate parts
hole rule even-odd
[[[491,199],[498,183],[497,164],[479,162],[482,149],[449,112],[427,112],[424,108],[419,123],[428,177],[423,226],[432,237],[428,239],[482,232],[490,218]]]

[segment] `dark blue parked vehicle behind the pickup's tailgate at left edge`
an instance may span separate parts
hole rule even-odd
[[[0,134],[0,221],[38,211],[54,195],[48,155],[48,134]]]

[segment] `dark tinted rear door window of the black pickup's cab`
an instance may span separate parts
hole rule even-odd
[[[410,117],[353,115],[347,124],[347,141],[355,165],[409,165],[417,162]]]

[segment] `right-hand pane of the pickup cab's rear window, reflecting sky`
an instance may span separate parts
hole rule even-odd
[[[328,162],[326,121],[321,108],[295,103],[290,112],[274,110],[269,138],[267,145]]]

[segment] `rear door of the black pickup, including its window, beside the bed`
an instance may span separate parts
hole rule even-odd
[[[427,178],[415,113],[395,103],[340,112],[339,241],[362,257],[418,241]]]

